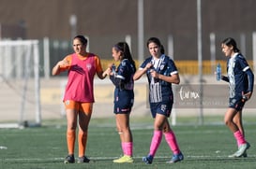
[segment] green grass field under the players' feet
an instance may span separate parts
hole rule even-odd
[[[253,120],[255,118],[248,118],[248,121]],[[91,159],[89,163],[63,163],[67,156],[65,120],[44,121],[42,127],[38,128],[0,129],[0,146],[7,147],[0,149],[0,168],[255,168],[256,124],[253,122],[245,123],[247,139],[251,145],[248,158],[228,158],[236,150],[236,144],[233,134],[224,125],[177,125],[173,126],[173,130],[185,160],[167,164],[172,153],[163,138],[153,164],[146,165],[142,162],[142,157],[148,153],[152,126],[150,119],[131,120],[135,162],[124,164],[113,163],[113,159],[121,155],[113,119],[91,120],[86,150],[86,155]]]

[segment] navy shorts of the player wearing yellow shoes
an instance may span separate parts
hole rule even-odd
[[[134,102],[133,91],[115,91],[113,101],[114,114],[127,114],[130,113]]]

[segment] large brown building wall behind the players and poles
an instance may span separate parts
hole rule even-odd
[[[144,42],[150,36],[158,36],[167,48],[168,36],[172,35],[175,60],[197,60],[196,4],[196,0],[144,0]],[[256,30],[255,7],[255,0],[202,0],[203,60],[211,57],[211,33],[216,35],[217,47],[226,36],[246,44],[242,49],[250,60],[251,35]],[[21,25],[21,21],[21,30],[4,31],[5,25]],[[54,40],[69,41],[75,33],[86,35],[90,50],[104,59],[112,58],[113,44],[129,35],[132,53],[138,58],[138,0],[0,0],[0,23],[4,25],[2,38],[48,37],[54,44]],[[144,45],[147,51],[145,48]],[[52,59],[63,57],[53,54]],[[223,58],[220,49],[216,58]]]

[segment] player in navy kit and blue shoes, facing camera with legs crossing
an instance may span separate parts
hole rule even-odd
[[[147,41],[147,48],[151,56],[147,58],[140,69],[135,73],[137,80],[146,74],[149,83],[149,104],[154,121],[154,134],[151,141],[149,154],[143,157],[143,162],[152,163],[161,142],[162,134],[169,147],[173,151],[170,162],[179,162],[184,159],[178,147],[168,118],[173,107],[172,83],[179,84],[180,79],[173,60],[164,54],[163,46],[157,37],[151,37]]]

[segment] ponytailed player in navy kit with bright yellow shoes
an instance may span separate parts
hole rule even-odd
[[[133,75],[136,67],[126,42],[119,42],[114,45],[112,52],[114,61],[120,61],[120,64],[117,68],[114,66],[109,67],[104,74],[110,76],[115,86],[113,113],[115,114],[116,128],[120,135],[124,154],[123,157],[113,160],[113,162],[133,162],[133,141],[129,128],[129,114],[134,101]]]

